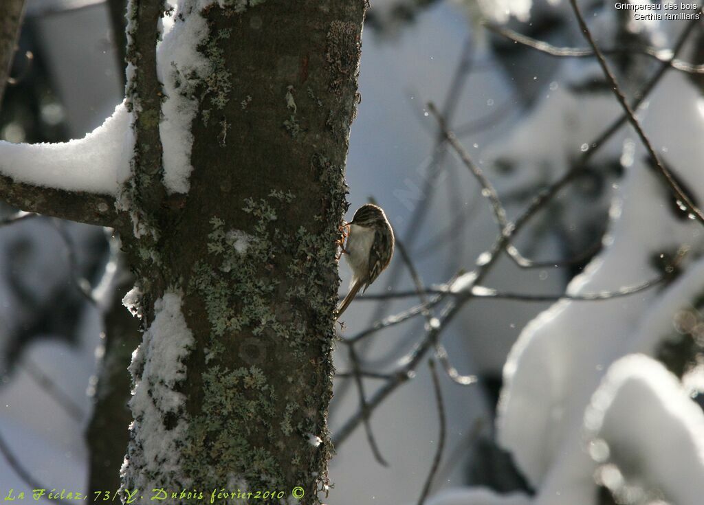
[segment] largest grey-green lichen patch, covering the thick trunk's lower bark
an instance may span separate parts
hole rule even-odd
[[[334,230],[346,187],[341,167],[324,157],[315,157],[311,170],[326,188],[316,208],[320,229],[291,229],[282,221],[298,203],[289,190],[246,198],[241,212],[251,217],[249,228],[228,229],[224,218],[211,217],[207,257],[189,281],[189,293],[204,302],[210,340],[202,404],[191,414],[185,459],[192,465],[187,471],[215,486],[226,476],[203,475],[212,471],[208,461],[224,463],[218,468],[230,468],[251,487],[313,474],[311,486],[327,483],[325,409],[338,282]],[[327,372],[321,379],[311,369]],[[321,442],[311,445],[311,438]],[[294,477],[291,457],[298,459]]]

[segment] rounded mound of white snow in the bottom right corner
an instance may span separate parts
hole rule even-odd
[[[664,494],[669,503],[701,503],[704,414],[660,362],[631,354],[612,364],[584,424],[603,464],[597,475],[617,500]]]

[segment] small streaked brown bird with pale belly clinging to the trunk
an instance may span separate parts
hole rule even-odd
[[[352,283],[349,293],[337,307],[336,321],[360,288],[364,287],[364,293],[389,266],[391,256],[394,255],[394,231],[382,207],[372,203],[362,205],[346,226],[349,231],[343,252],[352,269]]]

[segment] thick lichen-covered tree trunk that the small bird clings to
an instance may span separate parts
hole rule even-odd
[[[186,195],[155,183],[144,103],[156,95],[149,77],[132,84],[147,93],[135,93],[131,196],[149,232],[121,229],[146,328],[131,367],[123,490],[144,502],[153,489],[215,491],[218,501],[221,490],[285,499],[298,486],[296,498],[315,504],[327,490],[335,241],[365,6],[239,4],[202,13],[212,72],[194,90]],[[149,53],[139,58],[138,72],[149,72]]]

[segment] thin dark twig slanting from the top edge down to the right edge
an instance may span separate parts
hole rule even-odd
[[[626,100],[626,97],[621,91],[619,84],[616,82],[616,78],[611,72],[608,63],[606,63],[601,49],[598,48],[596,42],[591,36],[589,27],[586,25],[586,21],[582,16],[582,11],[580,11],[579,7],[577,6],[577,0],[570,0],[570,5],[572,6],[572,11],[574,11],[574,15],[577,17],[577,22],[579,23],[579,27],[582,29],[582,34],[584,34],[584,38],[586,39],[586,41],[589,42],[589,45],[592,47],[594,53],[596,54],[596,59],[598,60],[599,65],[601,66],[601,70],[603,70],[604,72],[604,77],[608,81],[611,91],[616,96],[617,101],[623,108],[624,113],[627,116],[628,122],[630,122],[631,126],[636,130],[636,134],[638,134],[639,138],[641,139],[643,146],[646,147],[650,158],[655,163],[655,167],[657,167],[658,174],[660,174],[660,177],[662,177],[662,179],[665,181],[665,184],[667,184],[667,186],[670,188],[670,191],[672,192],[673,196],[677,198],[677,200],[679,200],[681,205],[686,207],[687,210],[689,210],[689,212],[691,213],[691,215],[695,217],[698,222],[704,225],[704,214],[701,210],[699,210],[696,205],[694,205],[689,196],[687,196],[686,193],[682,191],[682,188],[679,186],[679,184],[677,184],[677,181],[674,179],[674,177],[672,177],[670,170],[665,167],[665,165],[662,163],[662,160],[660,160],[660,156],[658,155],[658,153],[655,152],[655,148],[653,148],[653,144],[650,143],[650,139],[648,139],[646,133],[643,132],[643,128],[641,127],[640,122],[636,119],[633,109]]]

